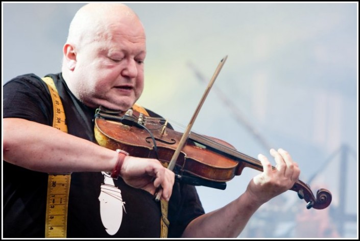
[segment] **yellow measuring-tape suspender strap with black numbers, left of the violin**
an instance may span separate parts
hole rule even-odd
[[[65,112],[54,81],[51,77],[43,77],[42,80],[49,87],[53,101],[53,127],[67,133]],[[70,180],[70,174],[49,174],[47,180],[45,237],[66,237]]]

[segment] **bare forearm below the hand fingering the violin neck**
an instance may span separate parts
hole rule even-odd
[[[226,206],[191,221],[182,237],[237,237],[259,207],[245,192]]]

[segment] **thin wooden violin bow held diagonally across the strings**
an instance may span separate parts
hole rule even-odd
[[[215,69],[215,72],[214,72],[214,74],[212,75],[212,77],[211,77],[211,79],[210,79],[210,82],[209,82],[209,84],[208,84],[207,87],[206,87],[206,90],[205,90],[205,92],[204,92],[204,94],[203,94],[203,96],[202,96],[202,98],[201,98],[201,100],[200,100],[200,102],[199,102],[199,104],[198,104],[198,107],[197,107],[196,110],[195,110],[195,113],[193,114],[193,117],[190,119],[190,122],[189,122],[189,124],[187,125],[187,127],[186,127],[186,129],[185,129],[185,131],[184,131],[184,133],[183,133],[183,135],[182,135],[182,137],[181,137],[181,139],[180,139],[179,145],[178,145],[178,147],[176,148],[176,150],[175,150],[175,152],[174,152],[174,155],[173,155],[173,157],[171,158],[169,165],[167,166],[167,169],[169,169],[169,170],[171,170],[171,171],[174,170],[174,167],[175,167],[175,164],[176,164],[176,160],[178,159],[179,154],[180,154],[182,148],[184,147],[184,145],[185,145],[185,143],[186,143],[186,140],[187,140],[187,138],[188,138],[188,136],[189,136],[191,127],[193,127],[194,122],[195,122],[195,119],[197,118],[197,116],[198,116],[198,114],[199,114],[199,112],[200,112],[200,109],[201,109],[201,107],[203,106],[203,103],[205,102],[205,99],[206,99],[207,95],[209,94],[210,89],[211,89],[212,85],[214,84],[215,79],[218,77],[218,75],[219,75],[219,73],[220,73],[220,70],[221,70],[222,67],[224,66],[225,61],[226,61],[227,58],[228,58],[228,56],[225,56],[225,57],[220,61],[218,67]],[[155,200],[156,200],[156,201],[159,201],[159,200],[160,200],[160,197],[161,197],[161,192],[157,192]]]

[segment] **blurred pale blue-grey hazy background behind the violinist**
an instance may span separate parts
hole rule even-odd
[[[69,23],[83,5],[2,3],[2,84],[60,72]],[[239,237],[358,237],[358,3],[127,5],[147,33],[139,104],[187,126],[228,56],[193,130],[273,165],[269,149],[281,147],[314,195],[332,194],[316,210],[287,191],[262,205]],[[197,186],[205,211],[237,198],[257,174],[244,169],[226,190]]]

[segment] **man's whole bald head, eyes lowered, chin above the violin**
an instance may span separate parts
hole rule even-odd
[[[91,108],[128,110],[143,90],[146,37],[124,4],[90,3],[74,16],[63,47],[62,76]]]

